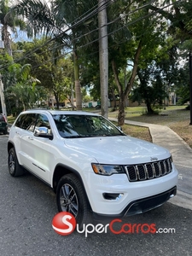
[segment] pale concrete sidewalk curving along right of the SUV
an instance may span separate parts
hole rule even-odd
[[[117,119],[109,118],[117,121]],[[148,127],[153,143],[167,148],[178,171],[177,195],[169,202],[192,210],[192,148],[169,127],[125,120],[127,125]]]

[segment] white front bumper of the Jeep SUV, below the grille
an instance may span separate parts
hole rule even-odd
[[[177,169],[172,165],[172,172],[158,178],[145,181],[129,182],[125,174],[109,177],[86,173],[85,191],[90,201],[92,212],[101,216],[123,216],[146,212],[167,201],[175,195]],[[170,192],[169,192],[170,191]]]

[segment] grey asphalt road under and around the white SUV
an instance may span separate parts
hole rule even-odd
[[[167,234],[84,234],[59,236],[51,227],[57,212],[55,194],[36,177],[10,177],[6,136],[0,136],[0,252],[3,256],[191,255],[192,211],[166,203],[123,220],[124,224],[155,224],[173,228]],[[119,229],[121,225],[116,227]]]

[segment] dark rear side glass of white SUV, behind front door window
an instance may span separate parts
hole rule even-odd
[[[34,131],[36,121],[36,113],[21,114],[17,119],[15,126],[27,131]]]

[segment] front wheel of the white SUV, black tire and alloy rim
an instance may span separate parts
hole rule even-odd
[[[56,190],[56,201],[58,211],[72,213],[80,228],[83,224],[91,223],[90,204],[82,183],[73,173],[61,177]]]

